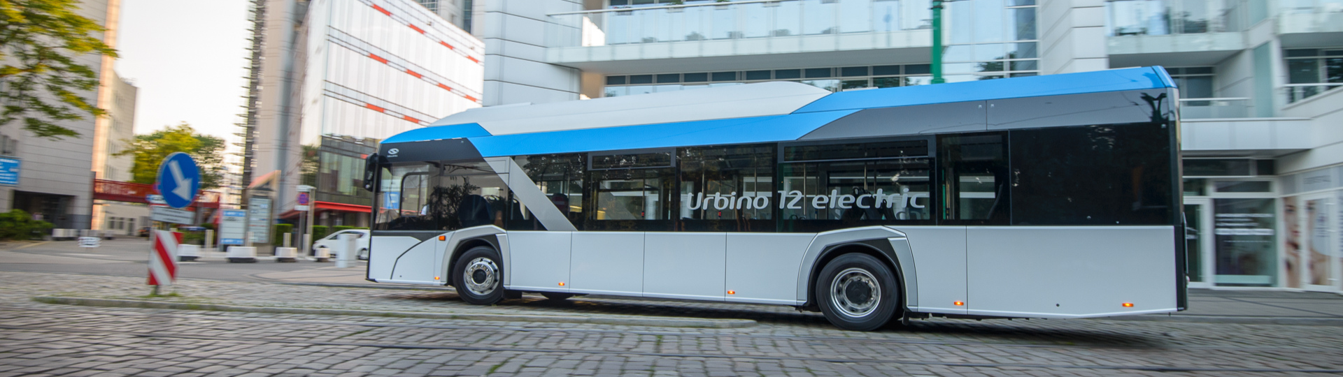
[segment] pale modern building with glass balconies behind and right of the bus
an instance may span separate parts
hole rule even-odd
[[[485,1],[483,105],[928,85],[931,1]],[[947,82],[1163,66],[1194,287],[1343,291],[1343,3],[943,3]]]

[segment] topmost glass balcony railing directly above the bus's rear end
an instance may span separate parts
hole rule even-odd
[[[1117,0],[1105,3],[1107,35],[1234,32],[1248,25],[1244,0]]]

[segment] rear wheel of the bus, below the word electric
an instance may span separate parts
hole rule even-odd
[[[876,283],[877,292],[873,292],[872,283]],[[830,323],[845,330],[881,329],[902,307],[896,274],[880,259],[866,254],[845,254],[831,259],[821,268],[813,290],[821,313]],[[837,291],[843,292],[843,297],[834,295]]]

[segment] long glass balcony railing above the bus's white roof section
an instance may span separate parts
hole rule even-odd
[[[932,27],[928,0],[767,0],[551,15],[548,47],[893,32]]]

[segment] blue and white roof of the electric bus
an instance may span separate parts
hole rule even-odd
[[[829,93],[791,82],[467,110],[383,141],[467,138],[482,157],[778,142],[865,109],[1175,87],[1162,67]]]

